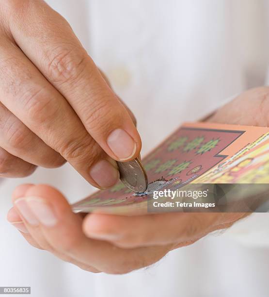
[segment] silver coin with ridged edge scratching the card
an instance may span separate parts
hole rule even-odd
[[[147,189],[147,174],[138,158],[128,162],[117,162],[120,180],[136,193],[143,193]]]

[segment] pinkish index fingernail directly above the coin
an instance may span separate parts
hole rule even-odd
[[[108,146],[120,161],[130,159],[136,152],[136,143],[122,129],[112,131],[107,139]]]

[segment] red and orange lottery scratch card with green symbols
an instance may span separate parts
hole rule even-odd
[[[149,186],[136,194],[119,182],[74,205],[74,211],[147,213],[159,190],[193,183],[269,183],[269,128],[185,123],[143,160]]]

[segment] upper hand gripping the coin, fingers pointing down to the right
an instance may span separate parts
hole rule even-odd
[[[99,188],[140,136],[67,21],[43,0],[0,0],[0,176],[65,160]],[[116,161],[115,161],[116,160]]]

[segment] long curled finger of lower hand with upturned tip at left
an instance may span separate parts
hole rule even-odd
[[[24,206],[35,215],[40,231],[51,247],[60,254],[94,266],[99,271],[125,273],[138,269],[158,261],[170,249],[149,247],[125,250],[113,247],[105,241],[89,239],[82,232],[81,217],[71,211],[61,193],[49,186],[37,185],[30,188],[25,195]],[[16,201],[16,206],[20,207]],[[29,214],[25,210],[23,212],[25,219],[32,222],[32,217],[27,218]]]

